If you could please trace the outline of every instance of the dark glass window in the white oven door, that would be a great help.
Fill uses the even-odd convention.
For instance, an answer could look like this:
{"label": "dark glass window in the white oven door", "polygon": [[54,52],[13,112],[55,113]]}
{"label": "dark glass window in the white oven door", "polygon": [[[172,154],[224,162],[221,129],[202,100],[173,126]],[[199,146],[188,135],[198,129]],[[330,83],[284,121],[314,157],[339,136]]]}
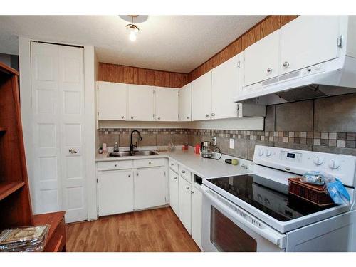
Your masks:
{"label": "dark glass window in the white oven door", "polygon": [[210,241],[219,251],[255,252],[257,242],[220,211],[211,206]]}

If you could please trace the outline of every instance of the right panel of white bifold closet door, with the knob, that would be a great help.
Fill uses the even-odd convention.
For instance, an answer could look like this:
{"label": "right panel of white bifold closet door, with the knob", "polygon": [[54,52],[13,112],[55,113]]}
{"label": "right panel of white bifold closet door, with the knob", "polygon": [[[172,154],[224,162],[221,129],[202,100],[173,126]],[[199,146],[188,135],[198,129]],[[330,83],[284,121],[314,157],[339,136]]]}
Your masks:
{"label": "right panel of white bifold closet door, with the knob", "polygon": [[83,48],[58,46],[61,167],[66,222],[87,219],[85,201]]}

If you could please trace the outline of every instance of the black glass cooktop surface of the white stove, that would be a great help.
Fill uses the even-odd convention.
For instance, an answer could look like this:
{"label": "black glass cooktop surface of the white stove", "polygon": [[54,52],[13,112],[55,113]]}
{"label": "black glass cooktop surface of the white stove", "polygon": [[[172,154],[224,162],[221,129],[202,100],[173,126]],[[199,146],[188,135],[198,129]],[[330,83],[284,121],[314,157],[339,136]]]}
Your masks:
{"label": "black glass cooktop surface of the white stove", "polygon": [[278,221],[290,221],[330,208],[330,206],[320,207],[288,195],[288,185],[255,174],[214,178],[207,181]]}

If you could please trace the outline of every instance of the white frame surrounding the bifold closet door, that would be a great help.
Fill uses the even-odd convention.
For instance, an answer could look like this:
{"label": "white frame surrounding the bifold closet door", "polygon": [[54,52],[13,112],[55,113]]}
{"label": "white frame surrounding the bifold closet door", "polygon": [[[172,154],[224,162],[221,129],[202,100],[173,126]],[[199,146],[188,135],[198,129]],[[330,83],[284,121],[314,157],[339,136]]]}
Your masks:
{"label": "white frame surrounding the bifold closet door", "polygon": [[[25,145],[26,165],[32,203],[35,202],[36,192],[33,173],[33,137],[32,137],[32,106],[31,106],[31,38],[19,37],[19,68],[20,68],[20,103],[21,123],[23,127],[23,142]],[[59,45],[80,46],[74,43],[53,43]],[[98,138],[95,138],[95,80],[98,77],[98,59],[95,56],[94,46],[84,48],[84,110],[85,110],[85,185],[87,204],[87,219],[97,219],[96,199],[96,172],[95,172],[95,147]],[[33,205],[32,205],[33,206]],[[34,208],[34,206],[33,206]],[[36,214],[36,209],[33,209]]]}

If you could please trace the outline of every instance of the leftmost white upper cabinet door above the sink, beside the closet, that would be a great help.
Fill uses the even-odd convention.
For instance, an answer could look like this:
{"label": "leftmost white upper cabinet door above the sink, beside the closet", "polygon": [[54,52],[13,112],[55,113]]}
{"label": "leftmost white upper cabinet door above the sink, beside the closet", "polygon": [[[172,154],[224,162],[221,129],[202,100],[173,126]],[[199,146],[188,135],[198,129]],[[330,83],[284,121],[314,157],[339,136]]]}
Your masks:
{"label": "leftmost white upper cabinet door above the sink, beside the closet", "polygon": [[127,85],[98,82],[98,120],[126,120]]}

